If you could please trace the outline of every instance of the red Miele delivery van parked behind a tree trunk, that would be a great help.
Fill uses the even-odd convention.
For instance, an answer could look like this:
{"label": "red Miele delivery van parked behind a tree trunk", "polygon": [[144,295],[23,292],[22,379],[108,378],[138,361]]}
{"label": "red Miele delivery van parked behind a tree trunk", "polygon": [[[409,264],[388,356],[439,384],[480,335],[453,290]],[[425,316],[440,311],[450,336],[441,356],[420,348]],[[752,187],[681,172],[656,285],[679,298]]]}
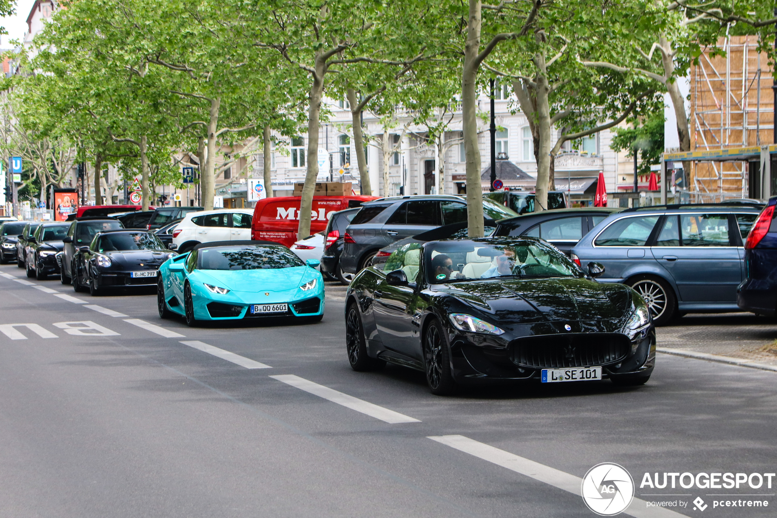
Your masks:
{"label": "red Miele delivery van parked behind a tree trunk", "polygon": [[[310,233],[325,230],[333,212],[359,207],[364,202],[377,199],[377,196],[313,196]],[[291,248],[297,241],[300,200],[300,196],[283,196],[256,202],[251,238],[274,241]]]}

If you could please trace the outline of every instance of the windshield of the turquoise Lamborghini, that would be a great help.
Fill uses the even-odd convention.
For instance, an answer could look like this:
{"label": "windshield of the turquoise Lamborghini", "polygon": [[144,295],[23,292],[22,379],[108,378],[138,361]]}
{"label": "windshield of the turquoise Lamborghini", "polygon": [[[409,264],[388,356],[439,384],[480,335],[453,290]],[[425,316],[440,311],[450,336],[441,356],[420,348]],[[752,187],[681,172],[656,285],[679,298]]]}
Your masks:
{"label": "windshield of the turquoise Lamborghini", "polygon": [[305,266],[285,246],[247,245],[200,249],[198,269],[270,269]]}

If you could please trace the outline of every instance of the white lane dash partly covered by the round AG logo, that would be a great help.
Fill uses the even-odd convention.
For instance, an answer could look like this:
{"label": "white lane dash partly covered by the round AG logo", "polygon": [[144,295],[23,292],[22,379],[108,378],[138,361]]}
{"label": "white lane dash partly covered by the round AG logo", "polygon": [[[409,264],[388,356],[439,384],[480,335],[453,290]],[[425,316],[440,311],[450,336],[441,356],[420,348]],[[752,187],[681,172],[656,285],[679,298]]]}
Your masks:
{"label": "white lane dash partly covered by the round AG logo", "polygon": [[[550,468],[545,466],[545,464],[530,461],[527,458],[511,454],[509,451],[500,450],[485,443],[479,443],[462,435],[428,436],[427,439],[436,440],[438,443],[463,451],[465,454],[481,458],[483,461],[493,462],[493,464],[497,464],[502,468],[507,468],[521,475],[526,475],[580,496],[583,479],[570,475],[565,471]],[[580,502],[580,506],[582,505],[583,502]],[[677,516],[685,516],[663,507],[648,507],[647,503],[642,499],[633,499],[629,508],[623,511],[623,513],[636,518],[676,518]]]}

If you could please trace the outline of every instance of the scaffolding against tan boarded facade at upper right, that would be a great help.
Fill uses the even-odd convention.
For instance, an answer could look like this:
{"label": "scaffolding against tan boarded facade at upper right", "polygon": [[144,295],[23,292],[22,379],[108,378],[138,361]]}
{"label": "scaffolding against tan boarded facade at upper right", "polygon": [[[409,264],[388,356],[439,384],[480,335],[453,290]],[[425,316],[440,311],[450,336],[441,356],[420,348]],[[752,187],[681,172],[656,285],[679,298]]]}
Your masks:
{"label": "scaffolding against tan boarded facade at upper right", "polygon": [[[723,54],[715,54],[723,50]],[[702,152],[760,147],[772,142],[774,97],[772,68],[758,52],[758,37],[723,37],[691,68],[691,150]],[[758,162],[755,162],[758,163]],[[688,175],[699,200],[747,197],[753,162],[696,161]]]}

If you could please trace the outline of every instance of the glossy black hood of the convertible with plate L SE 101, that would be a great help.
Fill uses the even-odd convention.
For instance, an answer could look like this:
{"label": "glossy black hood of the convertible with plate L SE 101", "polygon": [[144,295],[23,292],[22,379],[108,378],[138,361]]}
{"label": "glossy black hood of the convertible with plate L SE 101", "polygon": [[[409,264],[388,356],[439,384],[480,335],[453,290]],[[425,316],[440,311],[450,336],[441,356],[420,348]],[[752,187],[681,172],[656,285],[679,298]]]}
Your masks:
{"label": "glossy black hood of the convertible with plate L SE 101", "polygon": [[632,307],[629,287],[577,278],[481,280],[439,291],[506,324],[617,320]]}

